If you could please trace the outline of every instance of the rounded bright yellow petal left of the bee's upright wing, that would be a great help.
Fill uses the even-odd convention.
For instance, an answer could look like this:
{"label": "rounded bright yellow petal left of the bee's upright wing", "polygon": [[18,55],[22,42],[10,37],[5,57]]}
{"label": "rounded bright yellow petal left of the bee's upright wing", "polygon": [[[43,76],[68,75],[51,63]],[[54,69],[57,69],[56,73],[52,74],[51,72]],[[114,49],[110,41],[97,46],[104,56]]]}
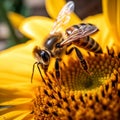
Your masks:
{"label": "rounded bright yellow petal left of the bee's upright wing", "polygon": [[41,45],[40,47],[42,47],[42,43],[49,34],[52,24],[52,20],[47,17],[29,17],[21,24],[20,31],[26,36],[37,40],[38,44]]}

